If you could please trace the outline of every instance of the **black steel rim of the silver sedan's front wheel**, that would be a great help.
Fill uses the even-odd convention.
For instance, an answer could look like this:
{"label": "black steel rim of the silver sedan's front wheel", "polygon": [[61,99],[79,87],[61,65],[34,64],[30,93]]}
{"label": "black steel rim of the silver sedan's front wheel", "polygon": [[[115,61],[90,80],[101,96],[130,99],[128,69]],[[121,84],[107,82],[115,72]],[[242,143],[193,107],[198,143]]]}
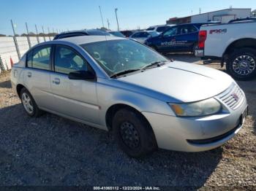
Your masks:
{"label": "black steel rim of the silver sedan's front wheel", "polygon": [[140,145],[140,136],[132,123],[123,122],[120,127],[121,139],[130,149],[135,149]]}

